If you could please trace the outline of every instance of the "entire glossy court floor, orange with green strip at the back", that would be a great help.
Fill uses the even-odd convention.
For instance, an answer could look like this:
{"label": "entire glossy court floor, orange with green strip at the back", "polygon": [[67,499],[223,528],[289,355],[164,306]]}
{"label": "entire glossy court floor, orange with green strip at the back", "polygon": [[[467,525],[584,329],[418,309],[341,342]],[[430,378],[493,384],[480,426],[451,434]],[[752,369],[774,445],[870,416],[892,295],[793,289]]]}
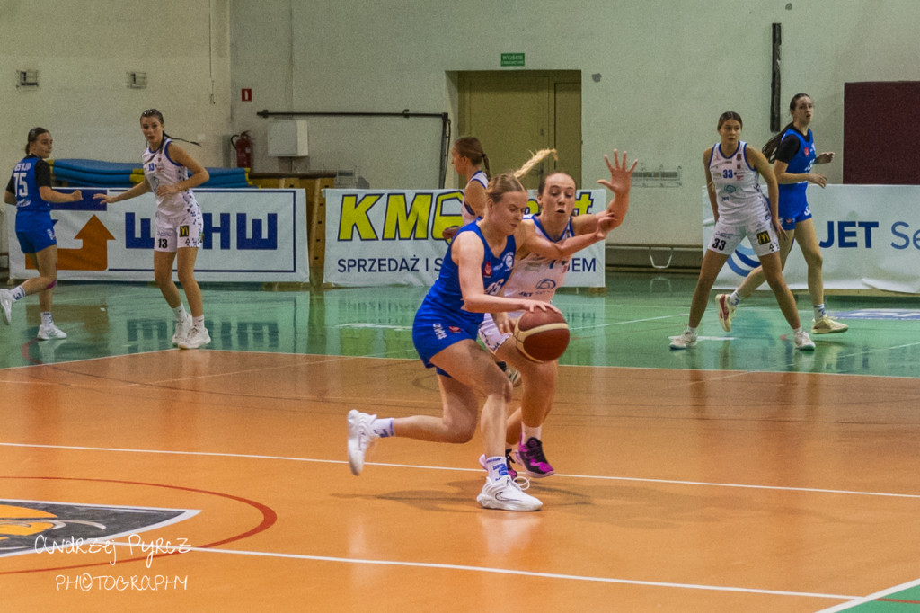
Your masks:
{"label": "entire glossy court floor, orange with green strip at the back", "polygon": [[440,414],[424,288],[204,285],[197,351],[144,283],[61,283],[60,341],[29,296],[0,326],[0,610],[920,607],[914,297],[829,296],[850,330],[800,353],[757,296],[673,352],[694,283],[557,296],[535,513],[477,505],[478,436],[387,439],[349,471],[350,409]]}

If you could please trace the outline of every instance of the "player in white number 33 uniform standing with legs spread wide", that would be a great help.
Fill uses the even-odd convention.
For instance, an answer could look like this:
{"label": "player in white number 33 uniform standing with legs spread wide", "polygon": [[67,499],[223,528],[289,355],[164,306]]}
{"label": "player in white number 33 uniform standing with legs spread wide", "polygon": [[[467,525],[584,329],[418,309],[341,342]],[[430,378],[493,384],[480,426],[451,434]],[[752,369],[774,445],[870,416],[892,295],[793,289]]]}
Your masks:
{"label": "player in white number 33 uniform standing with legs spread wide", "polygon": [[[773,168],[764,154],[741,140],[741,115],[732,111],[722,113],[718,130],[720,142],[703,152],[706,188],[716,228],[703,256],[690,305],[690,321],[683,334],[671,339],[671,348],[686,349],[696,345],[697,329],[706,311],[709,291],[722,266],[746,236],[764,269],[766,283],[793,330],[796,349],[813,351],[814,342],[801,328],[796,301],[783,278],[779,260],[779,237],[784,231],[779,224]],[[766,181],[769,200],[760,191],[758,173]]]}

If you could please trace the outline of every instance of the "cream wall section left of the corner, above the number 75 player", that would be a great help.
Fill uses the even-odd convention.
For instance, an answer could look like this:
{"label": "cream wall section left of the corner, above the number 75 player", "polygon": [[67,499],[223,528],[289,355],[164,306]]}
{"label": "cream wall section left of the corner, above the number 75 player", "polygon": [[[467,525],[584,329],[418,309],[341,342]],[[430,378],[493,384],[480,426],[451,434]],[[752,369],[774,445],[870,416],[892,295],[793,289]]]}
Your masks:
{"label": "cream wall section left of the corner, above the number 75 player", "polygon": [[[2,0],[0,177],[25,155],[29,129],[54,138],[53,157],[138,162],[138,120],[159,109],[167,132],[201,141],[190,154],[224,166],[230,134],[227,0]],[[16,71],[37,69],[40,85],[16,87]],[[147,73],[146,89],[127,74]],[[212,99],[213,94],[213,99]],[[4,206],[12,223],[14,209]],[[0,239],[6,251],[6,232]]]}

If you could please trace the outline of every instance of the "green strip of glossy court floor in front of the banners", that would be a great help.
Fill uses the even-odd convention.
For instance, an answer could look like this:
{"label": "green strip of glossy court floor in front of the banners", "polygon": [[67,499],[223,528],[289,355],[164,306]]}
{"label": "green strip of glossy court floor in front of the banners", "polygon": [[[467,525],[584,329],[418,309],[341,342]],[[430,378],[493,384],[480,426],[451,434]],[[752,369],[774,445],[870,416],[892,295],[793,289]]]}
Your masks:
{"label": "green strip of glossy court floor in front of the banners", "polygon": [[[742,303],[731,332],[716,308],[703,318],[696,347],[669,349],[681,333],[696,277],[608,272],[605,291],[562,289],[555,304],[571,329],[561,364],[920,376],[920,301],[914,296],[829,295],[842,334],[814,336],[814,352],[798,352],[772,294]],[[255,284],[202,285],[209,349],[415,359],[411,325],[424,287],[267,291]],[[715,292],[713,292],[715,295]],[[802,322],[811,301],[797,293]],[[84,360],[171,349],[172,313],[152,283],[63,281],[54,319],[67,332],[38,341],[38,300],[13,307],[0,326],[0,367]],[[178,350],[177,350],[178,351]],[[207,350],[205,350],[207,351]]]}

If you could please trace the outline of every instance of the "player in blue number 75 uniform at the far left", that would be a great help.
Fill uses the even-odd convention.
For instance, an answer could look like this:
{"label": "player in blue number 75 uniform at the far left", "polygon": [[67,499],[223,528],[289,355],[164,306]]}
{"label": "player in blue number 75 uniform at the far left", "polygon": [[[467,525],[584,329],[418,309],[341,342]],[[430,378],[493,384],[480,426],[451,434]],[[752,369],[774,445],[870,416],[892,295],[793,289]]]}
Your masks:
{"label": "player in blue number 75 uniform at the far left", "polygon": [[6,184],[4,202],[16,204],[16,237],[22,252],[35,263],[39,276],[12,290],[0,289],[0,311],[4,323],[12,318],[13,304],[30,294],[39,295],[41,324],[38,339],[65,339],[67,334],[54,325],[52,291],[57,283],[57,238],[54,236],[52,202],[83,200],[79,190],[52,190],[52,171],[45,159],[52,155],[52,133],[44,128],[29,130],[26,156],[13,169]]}

